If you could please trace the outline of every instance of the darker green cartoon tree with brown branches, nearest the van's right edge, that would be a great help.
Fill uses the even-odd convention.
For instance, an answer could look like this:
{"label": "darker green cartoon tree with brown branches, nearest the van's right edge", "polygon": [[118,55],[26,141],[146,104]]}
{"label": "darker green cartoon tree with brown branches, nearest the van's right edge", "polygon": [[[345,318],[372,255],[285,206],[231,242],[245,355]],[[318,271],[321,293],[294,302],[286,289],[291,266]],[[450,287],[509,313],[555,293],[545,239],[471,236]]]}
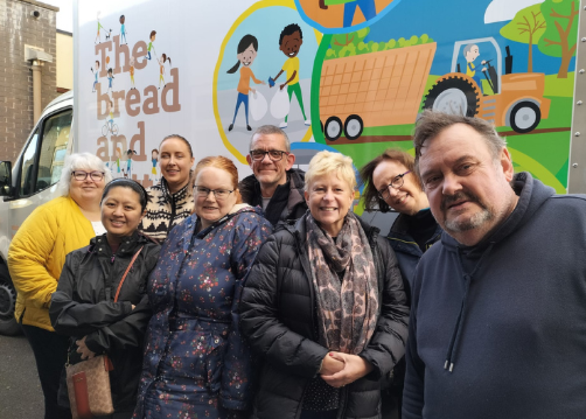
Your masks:
{"label": "darker green cartoon tree with brown branches, nearest the van's right edge", "polygon": [[570,60],[576,52],[578,8],[577,0],[546,0],[541,4],[547,29],[538,46],[548,56],[561,57],[558,79],[567,79]]}

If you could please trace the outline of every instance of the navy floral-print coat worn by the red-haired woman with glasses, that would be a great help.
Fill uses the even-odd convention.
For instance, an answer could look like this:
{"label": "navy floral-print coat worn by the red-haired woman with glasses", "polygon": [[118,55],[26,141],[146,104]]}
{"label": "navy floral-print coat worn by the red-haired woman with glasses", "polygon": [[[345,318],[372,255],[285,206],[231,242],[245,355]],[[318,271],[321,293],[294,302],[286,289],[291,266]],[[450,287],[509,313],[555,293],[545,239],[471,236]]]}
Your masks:
{"label": "navy floral-print coat worn by the red-haired woman with glasses", "polygon": [[196,224],[192,215],[171,231],[149,278],[135,418],[225,419],[253,398],[237,305],[271,224],[247,205],[199,233]]}

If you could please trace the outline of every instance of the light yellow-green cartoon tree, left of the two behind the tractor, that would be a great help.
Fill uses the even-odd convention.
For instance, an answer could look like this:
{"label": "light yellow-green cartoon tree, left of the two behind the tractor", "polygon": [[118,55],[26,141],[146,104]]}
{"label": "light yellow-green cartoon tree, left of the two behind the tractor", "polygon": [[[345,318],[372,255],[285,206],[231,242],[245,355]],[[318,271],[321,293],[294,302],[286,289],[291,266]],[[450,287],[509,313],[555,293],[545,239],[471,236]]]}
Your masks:
{"label": "light yellow-green cartoon tree, left of the two behind the tractor", "polygon": [[504,38],[529,45],[528,73],[533,73],[533,45],[539,42],[544,32],[546,32],[546,21],[541,14],[540,4],[521,9],[512,21],[500,28],[500,35]]}

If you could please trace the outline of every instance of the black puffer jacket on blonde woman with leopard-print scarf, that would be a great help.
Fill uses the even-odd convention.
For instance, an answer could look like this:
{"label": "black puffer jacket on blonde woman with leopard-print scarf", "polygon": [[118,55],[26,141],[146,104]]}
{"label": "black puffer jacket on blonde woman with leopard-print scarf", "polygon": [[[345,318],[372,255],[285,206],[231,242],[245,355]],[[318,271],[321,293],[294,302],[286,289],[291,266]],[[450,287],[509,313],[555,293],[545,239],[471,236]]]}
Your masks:
{"label": "black puffer jacket on blonde woman with leopard-print scarf", "polygon": [[[254,418],[294,419],[304,391],[328,349],[316,336],[314,287],[305,243],[305,217],[278,231],[261,247],[240,305],[241,326],[264,366]],[[405,352],[409,310],[397,258],[379,230],[362,220],[379,279],[381,314],[369,345],[359,355],[374,370],[343,387],[339,418],[380,418],[381,379]]]}

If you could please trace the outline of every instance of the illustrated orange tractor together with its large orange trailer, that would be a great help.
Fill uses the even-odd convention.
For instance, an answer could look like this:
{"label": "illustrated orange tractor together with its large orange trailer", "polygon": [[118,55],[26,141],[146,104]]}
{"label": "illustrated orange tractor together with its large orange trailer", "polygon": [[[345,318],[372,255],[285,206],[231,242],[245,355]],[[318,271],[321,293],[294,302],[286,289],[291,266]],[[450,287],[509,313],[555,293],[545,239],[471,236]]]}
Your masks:
{"label": "illustrated orange tractor together with its large orange trailer", "polygon": [[[482,70],[492,94],[483,96],[472,77],[459,70],[462,46],[489,42],[496,51],[496,69],[487,60]],[[319,86],[319,116],[326,140],[342,134],[355,140],[365,127],[413,124],[421,108],[435,56],[435,42],[325,60]],[[492,37],[454,44],[451,73],[440,77],[423,99],[423,108],[476,116],[516,132],[534,130],[547,118],[550,100],[543,97],[543,73],[511,74],[513,57],[502,53]]]}

